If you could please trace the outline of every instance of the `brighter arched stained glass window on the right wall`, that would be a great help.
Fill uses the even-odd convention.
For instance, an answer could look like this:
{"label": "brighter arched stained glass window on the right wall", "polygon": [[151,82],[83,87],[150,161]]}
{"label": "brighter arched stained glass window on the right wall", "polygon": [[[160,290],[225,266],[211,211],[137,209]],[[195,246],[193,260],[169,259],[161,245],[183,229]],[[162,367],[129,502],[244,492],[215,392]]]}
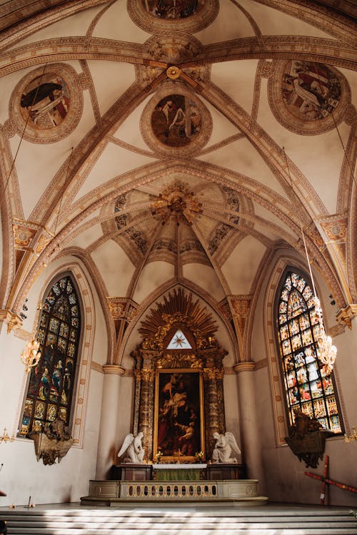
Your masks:
{"label": "brighter arched stained glass window on the right wall", "polygon": [[294,409],[301,409],[325,429],[341,433],[333,377],[316,357],[318,337],[311,287],[298,273],[287,272],[278,300],[278,343],[289,424]]}

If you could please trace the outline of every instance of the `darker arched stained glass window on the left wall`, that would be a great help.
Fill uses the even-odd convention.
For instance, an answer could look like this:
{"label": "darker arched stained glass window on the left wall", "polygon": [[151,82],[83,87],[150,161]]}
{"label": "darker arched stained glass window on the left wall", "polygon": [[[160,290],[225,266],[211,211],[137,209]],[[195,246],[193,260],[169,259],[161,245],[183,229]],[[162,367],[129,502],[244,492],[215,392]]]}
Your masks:
{"label": "darker arched stained glass window on the left wall", "polygon": [[69,424],[79,348],[81,314],[70,276],[51,287],[44,300],[37,340],[41,358],[31,370],[19,434],[60,418]]}

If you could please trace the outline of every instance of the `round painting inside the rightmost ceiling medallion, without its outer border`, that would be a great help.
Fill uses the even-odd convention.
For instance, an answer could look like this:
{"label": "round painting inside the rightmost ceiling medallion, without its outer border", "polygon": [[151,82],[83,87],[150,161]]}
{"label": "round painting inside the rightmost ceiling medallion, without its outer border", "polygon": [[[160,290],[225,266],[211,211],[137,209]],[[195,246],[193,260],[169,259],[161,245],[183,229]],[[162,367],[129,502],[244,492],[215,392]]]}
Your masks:
{"label": "round painting inside the rightmost ceiling medallion, without its outer border", "polygon": [[319,121],[333,113],[341,99],[341,84],[331,68],[314,61],[286,63],[283,101],[302,121]]}

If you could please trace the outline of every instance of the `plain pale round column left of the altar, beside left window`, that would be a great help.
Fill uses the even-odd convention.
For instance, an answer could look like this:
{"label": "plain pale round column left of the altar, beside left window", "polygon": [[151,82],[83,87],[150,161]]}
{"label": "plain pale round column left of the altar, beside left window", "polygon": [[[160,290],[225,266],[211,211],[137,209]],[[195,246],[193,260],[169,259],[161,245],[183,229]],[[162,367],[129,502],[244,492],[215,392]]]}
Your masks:
{"label": "plain pale round column left of the altar, beside left window", "polygon": [[120,377],[124,368],[116,365],[103,366],[104,381],[101,398],[101,424],[99,428],[96,479],[106,479],[116,454],[116,432],[118,423]]}

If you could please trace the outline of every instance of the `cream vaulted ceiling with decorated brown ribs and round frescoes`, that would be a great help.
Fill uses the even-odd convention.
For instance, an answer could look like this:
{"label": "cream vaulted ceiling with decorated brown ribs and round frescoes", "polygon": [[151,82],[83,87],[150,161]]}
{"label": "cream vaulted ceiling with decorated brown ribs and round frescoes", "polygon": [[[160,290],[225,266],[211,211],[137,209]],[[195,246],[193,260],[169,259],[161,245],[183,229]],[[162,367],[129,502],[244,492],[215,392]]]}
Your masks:
{"label": "cream vaulted ceiling with decorated brown ribs and round frescoes", "polygon": [[327,0],[6,2],[2,308],[69,254],[104,305],[181,283],[229,307],[277,250],[304,255],[301,229],[338,307],[356,302],[355,17]]}

